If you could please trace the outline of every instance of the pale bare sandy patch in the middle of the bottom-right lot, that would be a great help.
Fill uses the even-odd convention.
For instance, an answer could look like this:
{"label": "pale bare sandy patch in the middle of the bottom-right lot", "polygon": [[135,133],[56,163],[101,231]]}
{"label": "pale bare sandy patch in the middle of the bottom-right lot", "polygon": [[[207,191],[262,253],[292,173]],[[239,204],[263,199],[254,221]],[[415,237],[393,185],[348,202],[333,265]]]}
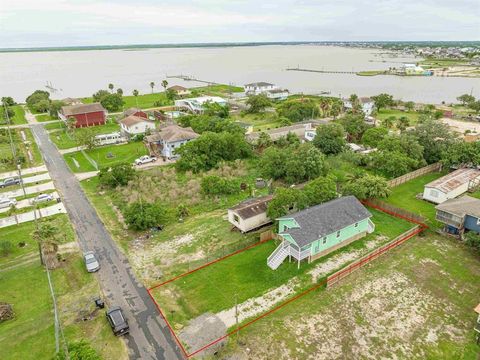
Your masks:
{"label": "pale bare sandy patch in the middle of the bottom-right lot", "polygon": [[412,358],[440,337],[465,336],[453,326],[431,323],[430,314],[439,307],[444,304],[395,272],[355,287],[324,312],[284,323],[308,347],[308,359],[348,358],[345,349],[356,358]]}

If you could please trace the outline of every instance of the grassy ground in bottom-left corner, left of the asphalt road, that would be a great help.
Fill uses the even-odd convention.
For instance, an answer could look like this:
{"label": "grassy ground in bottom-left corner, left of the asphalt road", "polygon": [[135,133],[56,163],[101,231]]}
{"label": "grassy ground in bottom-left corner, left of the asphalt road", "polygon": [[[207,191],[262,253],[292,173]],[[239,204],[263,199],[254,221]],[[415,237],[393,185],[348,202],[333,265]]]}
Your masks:
{"label": "grassy ground in bottom-left corner, left of the asphalt road", "polygon": [[[66,215],[45,220],[62,229],[59,253],[64,259],[51,272],[60,319],[68,342],[86,339],[105,359],[124,359],[126,351],[115,338],[103,312],[94,311],[92,299],[100,289],[85,271]],[[13,306],[15,318],[0,323],[0,358],[52,359],[55,352],[53,307],[45,269],[31,234],[33,222],[0,229],[0,239],[12,243],[12,252],[0,256],[0,302]],[[25,246],[19,247],[20,242]],[[83,321],[84,315],[90,320]]]}

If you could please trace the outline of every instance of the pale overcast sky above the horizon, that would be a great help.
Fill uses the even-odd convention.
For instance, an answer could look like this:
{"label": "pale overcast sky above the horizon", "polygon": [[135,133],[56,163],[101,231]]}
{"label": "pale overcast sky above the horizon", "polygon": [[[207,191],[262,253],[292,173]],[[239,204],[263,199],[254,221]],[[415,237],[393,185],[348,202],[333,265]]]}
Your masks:
{"label": "pale overcast sky above the horizon", "polygon": [[0,48],[480,40],[480,0],[0,0]]}

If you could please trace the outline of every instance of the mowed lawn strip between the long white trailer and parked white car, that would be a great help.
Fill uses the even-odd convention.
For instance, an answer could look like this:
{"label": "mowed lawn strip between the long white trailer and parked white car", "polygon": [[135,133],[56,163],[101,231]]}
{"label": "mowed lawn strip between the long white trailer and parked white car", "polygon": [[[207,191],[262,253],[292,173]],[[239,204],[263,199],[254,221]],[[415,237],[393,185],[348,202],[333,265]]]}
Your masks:
{"label": "mowed lawn strip between the long white trailer and parked white car", "polygon": [[[143,142],[131,142],[124,145],[109,145],[93,150],[76,151],[65,154],[63,157],[73,172],[88,172],[97,170],[85,154],[97,163],[98,168],[113,166],[127,162],[133,163],[135,159],[147,154]],[[77,161],[77,167],[74,159]]]}

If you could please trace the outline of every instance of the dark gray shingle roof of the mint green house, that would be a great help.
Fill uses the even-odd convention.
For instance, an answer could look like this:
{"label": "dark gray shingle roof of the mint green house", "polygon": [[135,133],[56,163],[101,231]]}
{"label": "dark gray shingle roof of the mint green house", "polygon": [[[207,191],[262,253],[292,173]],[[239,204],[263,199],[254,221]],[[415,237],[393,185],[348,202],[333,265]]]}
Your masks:
{"label": "dark gray shingle roof of the mint green house", "polygon": [[371,216],[356,197],[343,196],[280,219],[295,219],[300,228],[288,229],[284,234],[290,234],[303,247]]}

